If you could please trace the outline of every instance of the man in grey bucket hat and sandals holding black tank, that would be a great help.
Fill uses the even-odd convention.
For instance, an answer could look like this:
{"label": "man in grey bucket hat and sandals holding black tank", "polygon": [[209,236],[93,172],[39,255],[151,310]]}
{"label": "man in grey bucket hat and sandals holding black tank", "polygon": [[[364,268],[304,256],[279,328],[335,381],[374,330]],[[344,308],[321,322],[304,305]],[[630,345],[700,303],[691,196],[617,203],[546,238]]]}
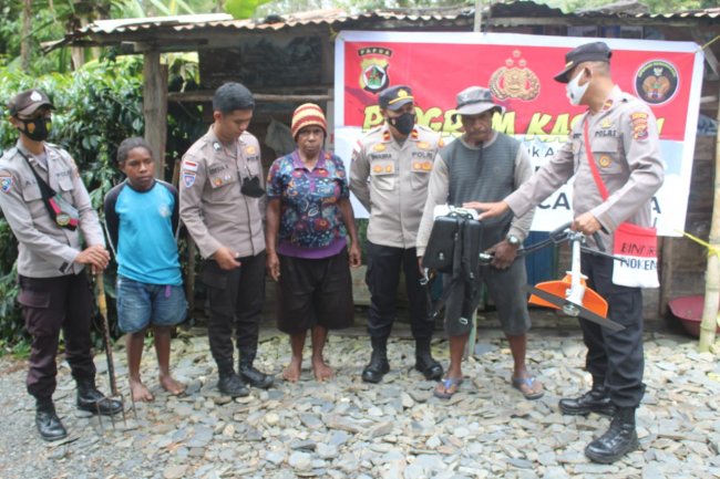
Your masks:
{"label": "man in grey bucket hat and sandals holding black tank", "polygon": [[[418,232],[418,254],[422,256],[430,240],[436,205],[463,206],[467,201],[497,200],[516,190],[533,174],[525,148],[515,138],[492,128],[493,116],[503,107],[491,91],[470,86],[457,93],[456,114],[463,135],[438,154],[430,177],[428,201]],[[450,366],[445,378],[434,391],[436,397],[449,399],[463,382],[462,356],[473,327],[472,316],[480,302],[480,285],[487,287],[497,308],[500,322],[513,355],[510,382],[527,399],[543,396],[543,385],[526,367],[527,331],[531,327],[524,261],[515,261],[517,249],[533,222],[533,210],[520,218],[505,215],[483,225],[481,249],[493,252],[491,264],[480,268],[477,280],[452,284],[445,302],[445,331],[450,339]]]}

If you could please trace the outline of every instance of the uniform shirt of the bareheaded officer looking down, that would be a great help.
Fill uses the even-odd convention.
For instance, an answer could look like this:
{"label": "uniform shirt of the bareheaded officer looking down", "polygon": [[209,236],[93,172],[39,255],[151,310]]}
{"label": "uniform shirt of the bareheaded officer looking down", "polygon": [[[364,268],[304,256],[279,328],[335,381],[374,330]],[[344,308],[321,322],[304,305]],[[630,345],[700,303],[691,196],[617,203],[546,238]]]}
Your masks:
{"label": "uniform shirt of the bareheaded officer looking down", "polygon": [[183,156],[179,214],[203,258],[212,257],[220,247],[240,257],[265,250],[266,198],[240,192],[243,178],[256,176],[265,187],[260,145],[248,132],[224,146],[210,126]]}

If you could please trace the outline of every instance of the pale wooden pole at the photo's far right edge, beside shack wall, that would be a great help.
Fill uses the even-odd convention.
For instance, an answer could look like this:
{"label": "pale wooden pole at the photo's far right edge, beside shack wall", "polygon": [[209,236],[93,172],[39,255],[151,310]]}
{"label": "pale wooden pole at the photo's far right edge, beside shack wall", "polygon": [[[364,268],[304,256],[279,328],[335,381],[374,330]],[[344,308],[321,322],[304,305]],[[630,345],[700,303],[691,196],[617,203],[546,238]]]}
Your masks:
{"label": "pale wooden pole at the photo's far right edge, beside shack wall", "polygon": [[[719,96],[720,97],[720,96]],[[718,102],[718,124],[720,124],[720,102]],[[714,200],[710,225],[708,269],[704,275],[704,306],[700,323],[700,352],[710,351],[714,344],[718,327],[718,304],[720,304],[720,134],[716,136],[714,149]]]}

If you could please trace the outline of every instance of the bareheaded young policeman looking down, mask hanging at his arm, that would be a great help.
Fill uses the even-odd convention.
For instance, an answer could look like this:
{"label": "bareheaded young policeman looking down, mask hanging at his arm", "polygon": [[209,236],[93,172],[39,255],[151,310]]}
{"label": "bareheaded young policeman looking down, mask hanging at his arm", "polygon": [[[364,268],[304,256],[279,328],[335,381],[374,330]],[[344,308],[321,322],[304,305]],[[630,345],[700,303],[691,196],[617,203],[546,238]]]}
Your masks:
{"label": "bareheaded young policeman looking down, mask hanging at his arm", "polygon": [[204,258],[200,278],[208,293],[208,340],[218,388],[233,397],[249,394],[246,383],[260,388],[272,384],[272,376],[254,366],[265,301],[266,204],[260,145],[247,132],[254,110],[253,94],[244,85],[218,87],[215,122],[183,156],[179,184],[181,218]]}

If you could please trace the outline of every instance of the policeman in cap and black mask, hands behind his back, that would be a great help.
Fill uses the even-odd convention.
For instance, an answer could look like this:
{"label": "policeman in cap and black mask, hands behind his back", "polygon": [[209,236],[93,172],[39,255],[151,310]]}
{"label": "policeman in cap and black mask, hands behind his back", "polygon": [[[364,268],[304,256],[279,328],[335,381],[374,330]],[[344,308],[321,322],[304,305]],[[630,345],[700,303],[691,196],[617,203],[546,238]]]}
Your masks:
{"label": "policeman in cap and black mask, hands behind his back", "polygon": [[350,168],[350,189],[370,211],[366,281],[371,294],[368,332],[372,356],[362,371],[362,381],[379,383],[390,371],[387,345],[395,320],[401,269],[410,301],[415,369],[428,379],[439,379],[443,371],[430,352],[434,324],[429,292],[420,284],[415,236],[442,139],[439,133],[415,124],[409,86],[382,91],[379,103],[384,122],[360,139]]}

